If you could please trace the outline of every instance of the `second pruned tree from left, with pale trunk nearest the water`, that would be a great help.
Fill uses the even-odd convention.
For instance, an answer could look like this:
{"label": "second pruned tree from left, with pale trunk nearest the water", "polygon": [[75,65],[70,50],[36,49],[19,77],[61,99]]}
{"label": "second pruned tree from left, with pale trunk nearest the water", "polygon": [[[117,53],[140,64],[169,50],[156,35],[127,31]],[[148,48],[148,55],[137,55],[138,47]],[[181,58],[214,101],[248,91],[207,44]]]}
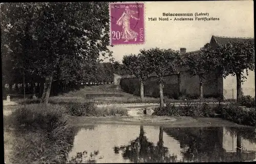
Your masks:
{"label": "second pruned tree from left, with pale trunk nearest the water", "polygon": [[172,49],[150,49],[141,50],[143,55],[150,65],[150,72],[155,72],[160,89],[160,105],[164,106],[163,102],[163,82],[164,76],[168,74],[174,74],[177,72],[177,67],[181,64],[181,58],[179,51]]}

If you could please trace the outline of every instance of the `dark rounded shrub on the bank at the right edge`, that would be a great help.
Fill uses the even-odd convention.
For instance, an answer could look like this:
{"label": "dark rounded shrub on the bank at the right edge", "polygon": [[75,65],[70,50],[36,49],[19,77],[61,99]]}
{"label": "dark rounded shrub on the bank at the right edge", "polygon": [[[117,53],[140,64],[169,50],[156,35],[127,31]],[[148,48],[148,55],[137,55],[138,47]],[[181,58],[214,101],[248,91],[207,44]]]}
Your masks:
{"label": "dark rounded shrub on the bank at the right edge", "polygon": [[255,126],[255,108],[243,108],[232,103],[222,110],[222,118],[237,124]]}

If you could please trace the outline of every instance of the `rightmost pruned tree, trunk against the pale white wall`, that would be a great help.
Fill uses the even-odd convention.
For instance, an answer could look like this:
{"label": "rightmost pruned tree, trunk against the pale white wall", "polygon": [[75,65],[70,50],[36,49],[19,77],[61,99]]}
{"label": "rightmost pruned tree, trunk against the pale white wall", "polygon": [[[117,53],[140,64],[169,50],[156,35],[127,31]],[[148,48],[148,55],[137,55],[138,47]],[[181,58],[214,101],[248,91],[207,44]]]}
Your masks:
{"label": "rightmost pruned tree, trunk against the pale white wall", "polygon": [[254,71],[254,42],[229,42],[217,48],[216,55],[220,57],[219,65],[223,70],[223,77],[236,75],[237,77],[237,101],[242,96],[242,82],[246,79],[244,70]]}

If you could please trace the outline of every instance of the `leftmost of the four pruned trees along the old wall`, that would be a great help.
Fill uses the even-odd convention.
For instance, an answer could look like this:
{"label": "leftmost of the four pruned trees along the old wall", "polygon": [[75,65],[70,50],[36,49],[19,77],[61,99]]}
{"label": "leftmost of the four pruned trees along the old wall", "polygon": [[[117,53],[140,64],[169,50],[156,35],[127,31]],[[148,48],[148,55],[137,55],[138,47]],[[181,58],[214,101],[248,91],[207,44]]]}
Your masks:
{"label": "leftmost of the four pruned trees along the old wall", "polygon": [[129,71],[140,80],[140,98],[144,99],[144,83],[150,74],[150,66],[148,65],[147,58],[139,54],[125,55],[122,60],[123,64]]}

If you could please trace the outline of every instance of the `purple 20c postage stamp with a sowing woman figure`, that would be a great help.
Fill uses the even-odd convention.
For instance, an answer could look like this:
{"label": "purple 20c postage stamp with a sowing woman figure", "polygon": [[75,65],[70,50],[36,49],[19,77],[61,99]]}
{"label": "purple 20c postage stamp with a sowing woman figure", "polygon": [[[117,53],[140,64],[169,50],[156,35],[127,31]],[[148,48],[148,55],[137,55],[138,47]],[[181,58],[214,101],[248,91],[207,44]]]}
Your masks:
{"label": "purple 20c postage stamp with a sowing woman figure", "polygon": [[144,30],[143,3],[110,4],[111,44],[143,44]]}

